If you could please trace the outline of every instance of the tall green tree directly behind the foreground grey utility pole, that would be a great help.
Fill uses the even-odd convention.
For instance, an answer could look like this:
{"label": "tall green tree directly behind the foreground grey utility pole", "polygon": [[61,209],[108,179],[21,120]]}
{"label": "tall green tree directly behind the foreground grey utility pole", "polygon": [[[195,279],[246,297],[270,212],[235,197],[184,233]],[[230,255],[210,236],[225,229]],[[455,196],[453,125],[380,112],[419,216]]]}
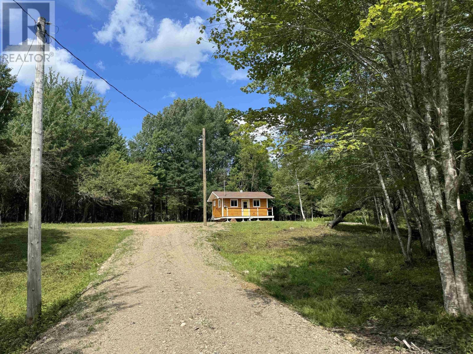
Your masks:
{"label": "tall green tree directly behind the foreground grey utility pole", "polygon": [[[0,164],[9,174],[9,218],[24,220],[29,176],[33,88],[20,98],[7,125]],[[44,82],[43,221],[75,220],[81,213],[76,187],[79,171],[108,151],[126,155],[119,127],[92,85],[50,71]]]}

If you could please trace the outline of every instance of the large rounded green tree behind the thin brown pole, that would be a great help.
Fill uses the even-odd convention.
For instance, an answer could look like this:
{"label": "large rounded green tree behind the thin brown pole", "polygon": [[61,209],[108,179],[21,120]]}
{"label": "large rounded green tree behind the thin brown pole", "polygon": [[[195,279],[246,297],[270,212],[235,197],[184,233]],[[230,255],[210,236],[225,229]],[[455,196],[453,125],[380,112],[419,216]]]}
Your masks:
{"label": "large rounded green tree behind the thin brown pole", "polygon": [[151,202],[159,204],[160,219],[201,219],[202,127],[207,135],[208,190],[223,188],[238,151],[230,137],[235,127],[226,120],[221,103],[210,107],[201,98],[176,99],[162,112],[143,118],[141,131],[130,142],[131,157],[153,166],[157,184]]}

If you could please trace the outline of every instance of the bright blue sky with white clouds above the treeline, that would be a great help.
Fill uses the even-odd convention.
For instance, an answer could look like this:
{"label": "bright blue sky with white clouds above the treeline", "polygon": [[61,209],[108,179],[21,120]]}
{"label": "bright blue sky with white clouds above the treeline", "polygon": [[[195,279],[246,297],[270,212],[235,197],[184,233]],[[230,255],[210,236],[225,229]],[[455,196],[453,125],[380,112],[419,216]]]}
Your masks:
{"label": "bright blue sky with white clouds above the treeline", "polygon": [[[210,44],[197,45],[198,27],[212,14],[201,0],[56,0],[55,37],[133,100],[151,112],[179,98],[202,97],[211,106],[246,110],[266,106],[267,97],[245,94],[245,71],[211,58]],[[52,28],[51,31],[54,29]],[[146,114],[66,52],[56,49],[53,68],[85,81],[110,101],[111,118],[131,138]],[[17,68],[14,67],[14,73]],[[33,81],[34,68],[23,67],[16,91]]]}

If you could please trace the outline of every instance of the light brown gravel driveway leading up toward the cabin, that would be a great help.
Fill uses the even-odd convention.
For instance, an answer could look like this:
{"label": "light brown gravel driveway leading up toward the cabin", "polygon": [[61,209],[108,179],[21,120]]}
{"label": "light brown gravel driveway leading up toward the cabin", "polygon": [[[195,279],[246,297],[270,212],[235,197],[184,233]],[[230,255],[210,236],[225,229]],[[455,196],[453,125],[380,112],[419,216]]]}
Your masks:
{"label": "light brown gravel driveway leading up toward the cabin", "polygon": [[135,250],[107,262],[109,275],[28,353],[359,353],[209,265],[219,257],[199,241],[200,226],[131,228]]}

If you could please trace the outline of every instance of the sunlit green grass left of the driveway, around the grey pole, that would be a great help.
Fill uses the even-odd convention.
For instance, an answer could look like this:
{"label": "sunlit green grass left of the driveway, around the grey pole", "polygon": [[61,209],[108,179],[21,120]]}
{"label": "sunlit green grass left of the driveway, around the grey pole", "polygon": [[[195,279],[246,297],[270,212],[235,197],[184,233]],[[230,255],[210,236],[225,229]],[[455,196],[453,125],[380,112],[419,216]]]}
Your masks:
{"label": "sunlit green grass left of the driveway, around the grey pole", "polygon": [[60,320],[88,283],[97,277],[100,264],[131,233],[131,230],[80,230],[64,224],[45,224],[42,316],[35,325],[26,326],[27,224],[10,223],[1,227],[0,353],[21,353],[22,348]]}

